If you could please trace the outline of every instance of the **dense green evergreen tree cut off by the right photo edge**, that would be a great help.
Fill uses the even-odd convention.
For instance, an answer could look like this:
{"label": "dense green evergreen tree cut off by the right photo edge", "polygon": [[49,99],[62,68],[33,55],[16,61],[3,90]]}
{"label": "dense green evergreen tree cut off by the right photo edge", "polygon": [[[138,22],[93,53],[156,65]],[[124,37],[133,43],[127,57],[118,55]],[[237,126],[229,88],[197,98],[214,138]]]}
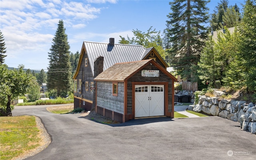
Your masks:
{"label": "dense green evergreen tree cut off by the right photo edge", "polygon": [[246,68],[247,91],[256,91],[256,0],[247,0],[244,5],[240,33],[240,52]]}

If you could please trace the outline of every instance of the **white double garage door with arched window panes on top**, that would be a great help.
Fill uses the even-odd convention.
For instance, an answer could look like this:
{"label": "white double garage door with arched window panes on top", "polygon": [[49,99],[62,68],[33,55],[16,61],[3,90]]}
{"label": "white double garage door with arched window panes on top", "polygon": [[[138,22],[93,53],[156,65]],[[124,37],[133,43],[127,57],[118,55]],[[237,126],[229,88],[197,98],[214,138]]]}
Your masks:
{"label": "white double garage door with arched window panes on top", "polygon": [[164,85],[135,86],[135,117],[164,115]]}

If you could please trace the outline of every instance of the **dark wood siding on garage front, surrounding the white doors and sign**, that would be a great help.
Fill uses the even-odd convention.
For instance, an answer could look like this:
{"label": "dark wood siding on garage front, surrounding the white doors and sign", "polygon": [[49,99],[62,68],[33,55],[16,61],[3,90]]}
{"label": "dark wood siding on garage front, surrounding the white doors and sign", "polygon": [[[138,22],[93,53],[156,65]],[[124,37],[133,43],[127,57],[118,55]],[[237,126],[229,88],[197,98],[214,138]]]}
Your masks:
{"label": "dark wood siding on garage front, surrounding the white doors and sign", "polygon": [[[156,66],[145,66],[142,70],[159,70]],[[141,71],[137,72],[127,81],[127,114],[132,114],[132,82],[168,82],[168,112],[172,111],[172,79],[160,70],[159,77],[142,77]]]}

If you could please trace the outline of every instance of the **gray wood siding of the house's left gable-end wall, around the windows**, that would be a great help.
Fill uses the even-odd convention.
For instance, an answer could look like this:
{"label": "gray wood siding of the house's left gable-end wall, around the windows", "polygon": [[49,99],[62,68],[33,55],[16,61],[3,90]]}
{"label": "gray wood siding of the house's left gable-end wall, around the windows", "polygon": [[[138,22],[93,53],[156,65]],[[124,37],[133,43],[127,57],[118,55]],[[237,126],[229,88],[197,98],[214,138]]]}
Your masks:
{"label": "gray wood siding of the house's left gable-end wall, around the windows", "polygon": [[[76,80],[82,80],[82,90],[81,94],[83,98],[87,100],[92,100],[93,97],[93,92],[90,90],[90,84],[93,82],[93,74],[92,74],[92,69],[90,67],[90,61],[88,60],[88,66],[85,67],[85,58],[88,58],[87,54],[84,53],[81,61],[81,65],[79,68],[79,72],[76,76]],[[93,62],[92,62],[93,63]],[[88,82],[89,88],[88,91],[86,90],[85,82]],[[81,97],[80,93],[74,92],[74,96]]]}

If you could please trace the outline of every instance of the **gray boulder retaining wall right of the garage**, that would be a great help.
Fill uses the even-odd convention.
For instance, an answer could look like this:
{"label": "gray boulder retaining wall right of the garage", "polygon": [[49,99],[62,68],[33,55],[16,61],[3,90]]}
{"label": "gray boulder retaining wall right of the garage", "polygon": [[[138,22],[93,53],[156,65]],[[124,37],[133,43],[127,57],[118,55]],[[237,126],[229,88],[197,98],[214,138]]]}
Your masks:
{"label": "gray boulder retaining wall right of the garage", "polygon": [[190,105],[188,110],[240,122],[242,130],[256,134],[256,105],[253,103],[199,96],[198,104]]}

